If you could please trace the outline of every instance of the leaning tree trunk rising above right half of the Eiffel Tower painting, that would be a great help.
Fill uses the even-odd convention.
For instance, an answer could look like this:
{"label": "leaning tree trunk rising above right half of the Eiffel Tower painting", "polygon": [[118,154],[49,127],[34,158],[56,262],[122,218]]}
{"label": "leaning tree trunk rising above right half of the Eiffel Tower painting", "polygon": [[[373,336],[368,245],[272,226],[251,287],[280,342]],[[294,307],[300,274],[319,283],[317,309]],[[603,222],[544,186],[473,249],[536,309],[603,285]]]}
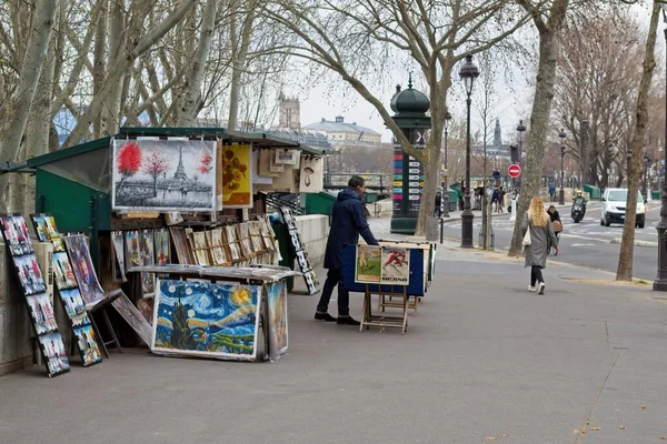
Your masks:
{"label": "leaning tree trunk rising above right half of the Eiffel Tower painting", "polygon": [[192,127],[201,107],[203,70],[211,49],[211,40],[216,27],[216,3],[217,0],[208,0],[202,12],[199,46],[193,54],[192,70],[186,77],[187,87],[178,127]]}

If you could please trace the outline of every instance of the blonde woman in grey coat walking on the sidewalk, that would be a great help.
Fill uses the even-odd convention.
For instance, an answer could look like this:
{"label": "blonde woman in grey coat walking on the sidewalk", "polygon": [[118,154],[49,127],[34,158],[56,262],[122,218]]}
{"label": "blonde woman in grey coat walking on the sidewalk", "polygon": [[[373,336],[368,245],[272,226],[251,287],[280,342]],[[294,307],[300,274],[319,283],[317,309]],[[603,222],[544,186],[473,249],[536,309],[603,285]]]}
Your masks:
{"label": "blonde woman in grey coat walking on the sidewalk", "polygon": [[547,255],[551,245],[559,252],[558,240],[551,226],[551,218],[545,211],[545,203],[539,195],[530,201],[528,212],[521,223],[524,245],[526,246],[526,266],[530,266],[530,285],[528,291],[545,294],[542,269],[547,266]]}

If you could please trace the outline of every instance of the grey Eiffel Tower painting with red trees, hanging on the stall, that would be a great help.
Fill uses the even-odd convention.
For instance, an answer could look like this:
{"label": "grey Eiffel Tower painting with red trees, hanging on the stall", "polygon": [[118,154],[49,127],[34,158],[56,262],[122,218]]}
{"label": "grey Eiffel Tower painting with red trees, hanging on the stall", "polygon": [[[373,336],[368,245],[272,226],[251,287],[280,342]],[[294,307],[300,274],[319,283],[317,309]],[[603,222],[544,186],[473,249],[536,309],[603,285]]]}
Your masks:
{"label": "grey Eiffel Tower painting with red trees, hanging on the stall", "polygon": [[216,142],[113,141],[113,210],[215,211]]}

